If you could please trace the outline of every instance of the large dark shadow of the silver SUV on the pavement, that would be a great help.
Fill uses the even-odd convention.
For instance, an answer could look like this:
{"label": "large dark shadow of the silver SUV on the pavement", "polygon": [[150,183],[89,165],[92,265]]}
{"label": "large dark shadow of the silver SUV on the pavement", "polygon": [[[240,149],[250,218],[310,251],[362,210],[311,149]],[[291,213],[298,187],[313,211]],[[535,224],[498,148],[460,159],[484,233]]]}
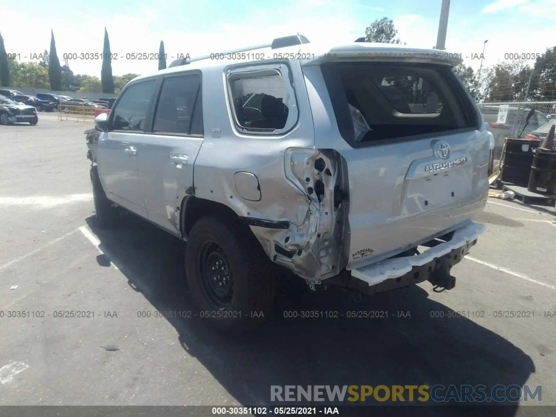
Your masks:
{"label": "large dark shadow of the silver SUV on the pavement", "polygon": [[[115,230],[99,230],[92,217],[87,219],[101,249],[118,262],[129,284],[155,309],[196,311],[185,282],[185,244],[131,214],[122,215],[125,222]],[[287,277],[277,288],[272,316],[251,334],[219,334],[199,318],[167,320],[178,331],[183,349],[246,406],[385,404],[371,396],[356,403],[272,403],[271,385],[485,385],[490,394],[498,384],[527,382],[535,372],[527,354],[481,326],[480,320],[486,318],[474,319],[477,324],[465,317],[448,317],[453,310],[428,298],[423,289],[432,289],[428,282],[421,285],[356,302],[353,294],[337,287],[312,292],[304,282]],[[305,319],[299,317],[301,311],[337,311],[338,317]],[[379,311],[383,317],[348,318],[348,311]],[[295,315],[290,312],[298,317],[286,317]],[[415,394],[411,404],[423,405]],[[470,403],[465,405],[463,413],[468,413]],[[451,407],[426,409],[426,415],[459,415]],[[388,414],[387,410],[396,415],[417,411],[373,407],[380,415]],[[488,414],[513,416],[517,410],[507,405]],[[358,407],[358,411],[368,414],[370,410]]]}

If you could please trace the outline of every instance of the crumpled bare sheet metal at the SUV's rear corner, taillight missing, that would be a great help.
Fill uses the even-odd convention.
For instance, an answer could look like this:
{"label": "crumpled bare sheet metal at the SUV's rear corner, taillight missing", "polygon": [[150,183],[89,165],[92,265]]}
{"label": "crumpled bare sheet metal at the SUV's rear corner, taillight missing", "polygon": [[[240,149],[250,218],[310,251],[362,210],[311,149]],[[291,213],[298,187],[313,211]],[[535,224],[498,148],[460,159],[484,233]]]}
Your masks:
{"label": "crumpled bare sheet metal at the SUV's rear corner, taillight missing", "polygon": [[290,221],[286,230],[251,226],[272,260],[310,284],[337,275],[347,262],[342,248],[344,204],[334,206],[334,188],[342,182],[339,160],[334,151],[289,148],[284,156],[285,175],[304,198],[300,210],[305,216],[301,222],[285,219]]}

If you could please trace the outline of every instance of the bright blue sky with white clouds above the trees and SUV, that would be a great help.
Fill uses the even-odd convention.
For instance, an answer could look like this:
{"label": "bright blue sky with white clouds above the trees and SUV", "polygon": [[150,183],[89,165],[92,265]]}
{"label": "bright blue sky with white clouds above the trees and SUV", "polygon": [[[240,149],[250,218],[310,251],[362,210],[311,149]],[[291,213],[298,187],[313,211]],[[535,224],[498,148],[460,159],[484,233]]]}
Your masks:
{"label": "bright blue sky with white clouds above the trees and SUV", "polygon": [[[32,7],[23,9],[0,0],[0,33],[8,53],[28,61],[31,53],[49,49],[51,28],[61,61],[63,53],[102,52],[106,26],[112,53],[119,56],[112,62],[115,75],[155,71],[156,61],[125,55],[157,52],[161,40],[170,56],[218,52],[297,32],[311,42],[345,43],[364,36],[365,28],[384,16],[394,19],[408,46],[429,48],[436,43],[441,5],[441,0],[31,1]],[[475,69],[480,62],[470,57],[481,53],[485,39],[484,65],[503,60],[505,53],[542,53],[556,46],[555,21],[556,0],[451,0],[446,49],[468,56],[465,63]],[[100,76],[101,61],[78,59],[69,66],[74,73]]]}

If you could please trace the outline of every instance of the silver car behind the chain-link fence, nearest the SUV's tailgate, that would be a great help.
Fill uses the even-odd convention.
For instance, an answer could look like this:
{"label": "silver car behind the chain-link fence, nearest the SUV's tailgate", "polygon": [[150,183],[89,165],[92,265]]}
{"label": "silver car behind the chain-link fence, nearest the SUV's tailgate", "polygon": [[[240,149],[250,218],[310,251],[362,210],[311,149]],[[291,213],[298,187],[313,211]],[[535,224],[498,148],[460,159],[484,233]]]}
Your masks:
{"label": "silver car behind the chain-link fence, nearest the SUV's tailgate", "polygon": [[533,117],[530,118],[529,123],[525,126],[525,120],[531,109],[509,106],[505,123],[498,123],[499,105],[479,105],[478,107],[483,115],[486,130],[493,134],[495,148],[499,151],[502,150],[505,137],[525,137],[548,122],[547,116],[535,110]]}

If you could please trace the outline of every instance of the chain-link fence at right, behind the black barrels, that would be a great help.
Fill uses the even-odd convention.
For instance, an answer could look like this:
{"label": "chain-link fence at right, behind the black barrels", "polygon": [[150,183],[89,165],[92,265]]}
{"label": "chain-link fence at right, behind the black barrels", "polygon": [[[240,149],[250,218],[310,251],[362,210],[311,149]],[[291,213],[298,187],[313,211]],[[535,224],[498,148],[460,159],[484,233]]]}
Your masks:
{"label": "chain-link fence at right, behind the black barrels", "polygon": [[[505,122],[499,123],[498,113],[500,106],[503,105],[508,106],[508,113]],[[527,135],[535,135],[543,140],[547,136],[550,125],[543,126],[549,121],[556,123],[556,101],[485,102],[478,103],[477,106],[483,114],[486,129],[494,136],[495,164],[502,155],[505,137],[525,138]],[[526,125],[527,115],[532,109],[535,112]]]}

